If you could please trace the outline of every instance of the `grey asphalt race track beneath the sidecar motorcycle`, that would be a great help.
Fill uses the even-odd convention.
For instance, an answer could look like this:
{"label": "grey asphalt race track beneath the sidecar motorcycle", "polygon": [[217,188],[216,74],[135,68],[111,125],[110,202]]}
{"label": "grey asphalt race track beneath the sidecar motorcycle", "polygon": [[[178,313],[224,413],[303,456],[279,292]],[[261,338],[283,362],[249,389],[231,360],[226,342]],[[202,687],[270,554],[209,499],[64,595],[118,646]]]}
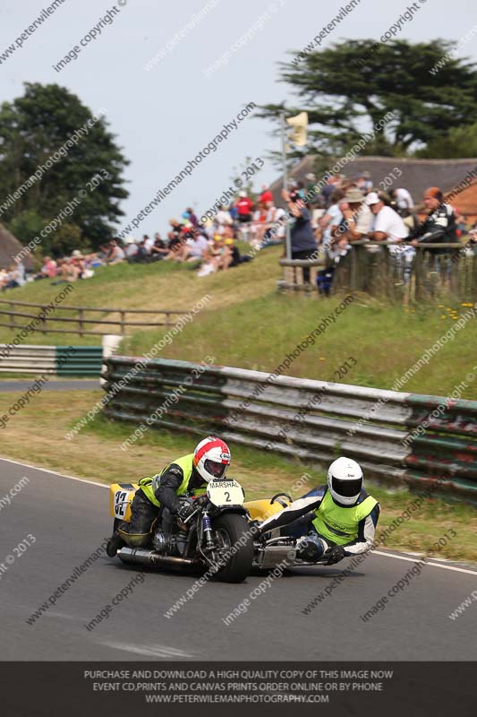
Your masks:
{"label": "grey asphalt race track beneath the sidecar motorcycle", "polygon": [[[386,609],[362,621],[360,615],[413,567],[412,557],[391,553],[368,557],[309,615],[302,609],[341,570],[294,569],[273,580],[230,626],[221,618],[250,598],[262,575],[240,585],[207,583],[165,618],[196,577],[146,572],[132,594],[88,631],[85,624],[138,574],[103,554],[30,626],[31,613],[109,535],[108,493],[15,462],[2,460],[0,467],[0,501],[23,476],[30,479],[11,505],[0,502],[3,660],[477,660],[477,605],[454,621],[447,617],[476,589],[473,566],[448,569],[456,564],[432,561]],[[29,534],[36,541],[14,557]]]}

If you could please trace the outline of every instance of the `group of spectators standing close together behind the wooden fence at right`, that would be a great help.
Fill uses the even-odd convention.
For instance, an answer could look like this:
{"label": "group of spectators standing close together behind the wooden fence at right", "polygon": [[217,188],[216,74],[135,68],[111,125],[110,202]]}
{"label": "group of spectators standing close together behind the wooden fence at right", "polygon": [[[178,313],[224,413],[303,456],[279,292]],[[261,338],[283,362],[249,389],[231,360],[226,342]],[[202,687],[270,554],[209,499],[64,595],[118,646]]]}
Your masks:
{"label": "group of spectators standing close together behind the wooden fence at right", "polygon": [[[328,296],[336,267],[348,254],[355,242],[386,242],[391,261],[403,270],[409,281],[415,247],[419,244],[456,243],[460,237],[477,231],[459,210],[444,200],[439,187],[425,190],[423,204],[426,217],[419,220],[413,197],[405,187],[388,192],[376,191],[371,176],[364,172],[359,177],[333,175],[314,194],[316,177],[306,176],[304,182],[292,182],[291,190],[282,195],[288,211],[294,217],[291,228],[291,258],[318,260],[325,258],[326,268],[319,271],[318,289]],[[307,203],[308,196],[311,203]],[[371,253],[382,251],[376,244],[366,246]],[[436,257],[446,255],[446,249],[430,248]],[[309,281],[310,272],[303,269],[303,280]]]}

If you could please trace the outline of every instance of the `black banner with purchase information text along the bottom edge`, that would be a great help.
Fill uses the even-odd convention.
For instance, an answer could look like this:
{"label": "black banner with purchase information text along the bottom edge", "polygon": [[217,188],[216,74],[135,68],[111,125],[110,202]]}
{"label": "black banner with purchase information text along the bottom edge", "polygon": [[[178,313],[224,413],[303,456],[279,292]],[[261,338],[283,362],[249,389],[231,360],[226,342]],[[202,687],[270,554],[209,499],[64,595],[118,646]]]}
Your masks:
{"label": "black banner with purchase information text along the bottom edge", "polygon": [[475,662],[3,662],[0,713],[131,717],[226,708],[250,717],[271,707],[280,715],[439,717],[457,699],[465,717],[477,714],[476,669]]}

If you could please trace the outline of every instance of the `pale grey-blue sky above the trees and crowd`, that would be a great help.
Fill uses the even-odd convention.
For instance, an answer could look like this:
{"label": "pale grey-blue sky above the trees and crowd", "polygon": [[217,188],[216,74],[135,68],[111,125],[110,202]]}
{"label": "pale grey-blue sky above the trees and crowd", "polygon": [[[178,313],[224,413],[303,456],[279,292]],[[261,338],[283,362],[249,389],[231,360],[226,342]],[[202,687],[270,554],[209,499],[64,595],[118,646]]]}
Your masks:
{"label": "pale grey-blue sky above the trees and crowd", "polygon": [[[106,109],[109,129],[131,161],[124,173],[130,196],[121,203],[124,218],[118,232],[246,105],[283,100],[296,104],[289,88],[279,82],[279,63],[319,36],[347,4],[56,0],[55,11],[44,13],[47,19],[21,38],[52,2],[2,0],[0,58],[11,45],[15,50],[0,63],[0,97],[5,101],[21,96],[23,82],[56,82],[77,94],[91,111]],[[477,26],[477,6],[469,0],[454,0],[450,8],[444,0],[354,3],[352,11],[342,13],[343,20],[322,37],[320,48],[342,39],[376,40],[396,23],[396,38],[412,41],[435,39],[444,32],[446,39],[459,40]],[[412,5],[414,12],[407,13],[412,19],[403,20]],[[89,32],[95,29],[92,38]],[[72,51],[75,46],[79,52]],[[71,51],[76,58],[57,72],[53,65]],[[459,55],[477,61],[477,35]],[[345,68],[343,76],[345,82]],[[276,122],[249,114],[141,220],[133,235],[166,233],[168,220],[179,217],[186,206],[201,215],[232,184],[234,168],[242,167],[246,157],[263,161],[255,170],[254,187],[271,183],[278,175],[268,159],[270,151],[280,149],[273,134],[276,128]]]}

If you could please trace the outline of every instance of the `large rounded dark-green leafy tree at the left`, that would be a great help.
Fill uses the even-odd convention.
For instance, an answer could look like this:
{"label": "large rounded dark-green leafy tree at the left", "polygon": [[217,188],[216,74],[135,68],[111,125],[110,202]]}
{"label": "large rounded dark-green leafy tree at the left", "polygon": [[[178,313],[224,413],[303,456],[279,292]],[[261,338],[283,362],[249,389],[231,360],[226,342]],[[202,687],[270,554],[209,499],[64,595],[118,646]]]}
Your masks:
{"label": "large rounded dark-green leafy tree at the left", "polygon": [[[89,108],[56,84],[26,83],[21,98],[4,102],[0,108],[0,205],[77,130],[83,126],[88,130],[78,143],[66,148],[66,156],[2,210],[0,220],[26,242],[33,228],[45,227],[83,190],[71,216],[42,239],[39,251],[44,255],[97,247],[111,237],[113,224],[124,214],[119,203],[128,195],[123,172],[129,161],[107,129],[106,119],[88,127],[89,119],[94,121]],[[91,191],[88,183],[95,175],[101,181]]]}

